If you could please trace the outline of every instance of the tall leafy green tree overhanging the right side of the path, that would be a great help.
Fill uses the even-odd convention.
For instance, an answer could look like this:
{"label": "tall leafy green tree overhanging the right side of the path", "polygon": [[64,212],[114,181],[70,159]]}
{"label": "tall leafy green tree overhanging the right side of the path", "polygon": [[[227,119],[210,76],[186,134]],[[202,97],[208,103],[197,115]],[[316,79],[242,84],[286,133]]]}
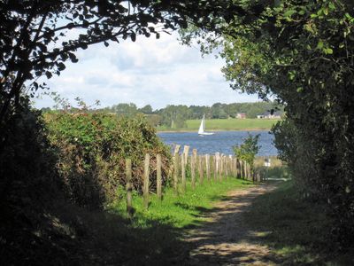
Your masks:
{"label": "tall leafy green tree overhanging the right side of the path", "polygon": [[[235,90],[275,96],[286,121],[275,144],[314,200],[336,217],[342,245],[354,236],[354,4],[352,1],[243,1],[258,12],[223,21],[223,69]],[[186,35],[186,34],[185,34]],[[192,31],[191,35],[203,35]],[[190,35],[189,35],[190,37]],[[205,49],[204,49],[205,51]]]}

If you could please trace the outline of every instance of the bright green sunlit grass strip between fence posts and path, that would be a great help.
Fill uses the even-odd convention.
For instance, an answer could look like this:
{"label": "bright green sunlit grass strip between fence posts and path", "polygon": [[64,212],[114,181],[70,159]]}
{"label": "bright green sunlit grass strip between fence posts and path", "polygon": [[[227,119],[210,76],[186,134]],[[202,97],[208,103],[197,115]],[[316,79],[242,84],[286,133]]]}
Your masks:
{"label": "bright green sunlit grass strip between fence posts and path", "polygon": [[[187,184],[187,192],[176,196],[172,188],[165,190],[164,198],[159,201],[155,194],[150,195],[148,210],[142,207],[142,197],[135,195],[133,198],[135,215],[133,226],[149,227],[150,221],[173,226],[173,228],[185,228],[195,226],[204,221],[202,212],[211,209],[212,203],[222,199],[226,192],[232,189],[242,189],[250,186],[250,182],[235,178],[228,178],[222,182],[204,181],[203,185],[196,185],[196,190]],[[126,202],[120,200],[112,206],[113,212],[127,217]]]}

